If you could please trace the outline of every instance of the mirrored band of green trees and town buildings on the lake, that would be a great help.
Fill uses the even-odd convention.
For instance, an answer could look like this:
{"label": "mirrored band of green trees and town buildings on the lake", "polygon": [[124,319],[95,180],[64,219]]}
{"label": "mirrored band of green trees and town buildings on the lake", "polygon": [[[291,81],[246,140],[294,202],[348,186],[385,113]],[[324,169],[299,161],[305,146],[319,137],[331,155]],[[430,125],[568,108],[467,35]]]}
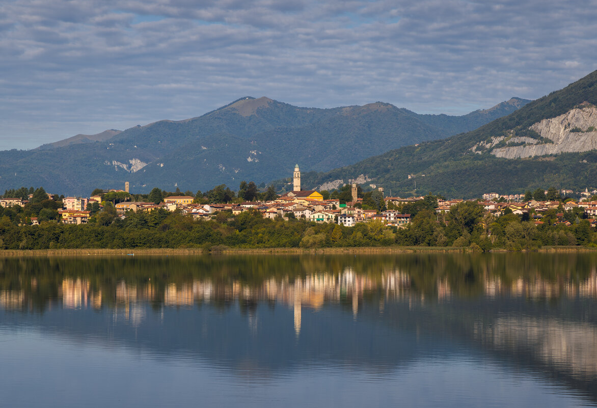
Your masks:
{"label": "mirrored band of green trees and town buildings on the lake", "polygon": [[136,302],[180,307],[241,299],[317,309],[350,298],[356,314],[370,292],[440,302],[453,296],[595,299],[596,261],[593,254],[4,259],[0,306],[43,310],[61,299],[69,309]]}

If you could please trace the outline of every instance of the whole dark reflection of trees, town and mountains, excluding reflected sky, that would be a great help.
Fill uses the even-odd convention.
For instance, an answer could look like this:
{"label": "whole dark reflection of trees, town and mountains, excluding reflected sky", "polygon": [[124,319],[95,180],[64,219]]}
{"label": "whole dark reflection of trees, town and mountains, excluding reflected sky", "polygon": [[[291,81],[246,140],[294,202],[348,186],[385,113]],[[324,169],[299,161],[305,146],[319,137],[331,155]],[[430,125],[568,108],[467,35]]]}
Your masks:
{"label": "whole dark reflection of trees, town and mountains, excluding reflected sky", "polygon": [[595,404],[596,255],[4,259],[0,329],[210,361],[248,378],[308,362],[377,379],[472,358]]}

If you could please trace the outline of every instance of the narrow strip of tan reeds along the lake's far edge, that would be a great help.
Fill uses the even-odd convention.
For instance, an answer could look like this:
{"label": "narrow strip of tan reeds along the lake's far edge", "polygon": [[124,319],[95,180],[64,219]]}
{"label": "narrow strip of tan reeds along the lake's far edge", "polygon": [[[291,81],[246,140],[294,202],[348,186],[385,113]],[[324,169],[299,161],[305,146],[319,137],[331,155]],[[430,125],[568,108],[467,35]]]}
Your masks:
{"label": "narrow strip of tan reeds along the lake's far edge", "polygon": [[[134,248],[134,249],[35,249],[35,250],[0,250],[0,259],[7,257],[67,257],[67,256],[194,256],[205,254],[392,254],[392,253],[480,253],[470,247],[332,247],[332,248]],[[506,249],[494,249],[491,252],[521,252]],[[597,252],[595,247],[549,246],[522,252]]]}

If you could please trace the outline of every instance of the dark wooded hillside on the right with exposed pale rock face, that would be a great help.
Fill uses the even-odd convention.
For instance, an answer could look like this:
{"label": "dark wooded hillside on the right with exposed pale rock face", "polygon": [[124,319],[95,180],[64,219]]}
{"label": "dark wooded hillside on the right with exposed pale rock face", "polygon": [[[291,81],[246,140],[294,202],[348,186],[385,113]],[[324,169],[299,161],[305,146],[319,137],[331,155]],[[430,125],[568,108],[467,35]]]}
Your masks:
{"label": "dark wooded hillside on the right with exposed pale rock face", "polygon": [[312,188],[360,176],[392,195],[432,191],[464,198],[549,186],[595,188],[595,105],[597,71],[468,133],[394,149],[326,173],[304,174],[302,180]]}

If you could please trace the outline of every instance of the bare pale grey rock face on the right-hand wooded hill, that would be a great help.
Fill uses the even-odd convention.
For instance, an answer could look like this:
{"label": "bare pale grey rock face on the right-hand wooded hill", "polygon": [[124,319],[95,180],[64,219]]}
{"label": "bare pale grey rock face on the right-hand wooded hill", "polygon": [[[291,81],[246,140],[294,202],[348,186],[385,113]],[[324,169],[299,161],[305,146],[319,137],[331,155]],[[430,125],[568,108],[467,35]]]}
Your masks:
{"label": "bare pale grey rock face on the right-hand wooded hill", "polygon": [[[491,154],[515,159],[597,149],[597,108],[595,106],[575,108],[564,115],[543,119],[532,125],[530,130],[536,131],[551,143],[537,143],[537,140],[533,139],[520,146],[494,148]],[[516,140],[508,140],[508,142],[512,143]]]}

